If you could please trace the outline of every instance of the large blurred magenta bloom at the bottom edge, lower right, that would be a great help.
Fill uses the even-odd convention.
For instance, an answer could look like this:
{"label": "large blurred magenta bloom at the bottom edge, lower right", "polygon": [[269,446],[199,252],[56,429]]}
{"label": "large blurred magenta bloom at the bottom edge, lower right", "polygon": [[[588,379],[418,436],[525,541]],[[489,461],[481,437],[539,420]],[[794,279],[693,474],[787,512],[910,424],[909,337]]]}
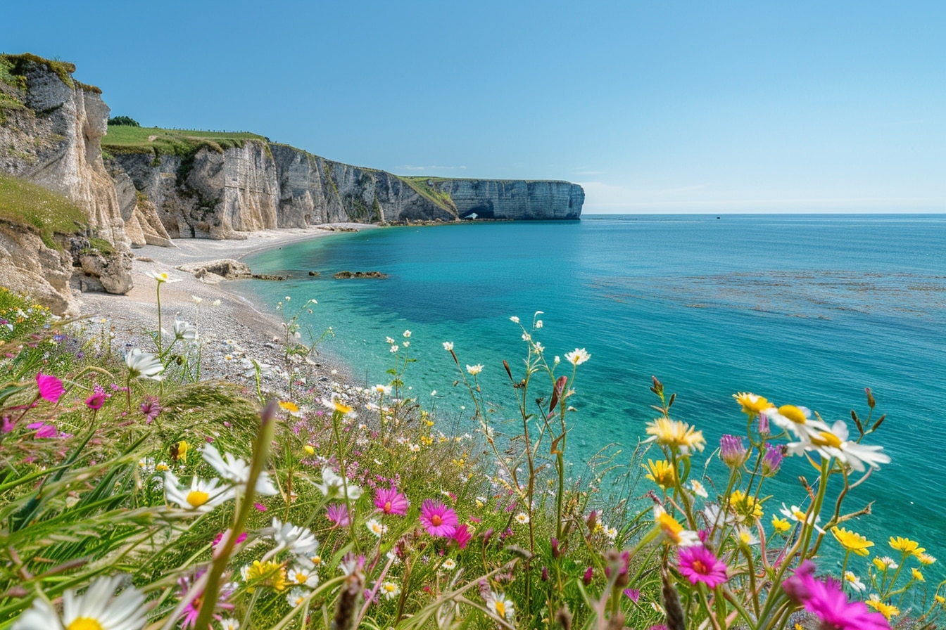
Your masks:
{"label": "large blurred magenta bloom at the bottom edge, lower right", "polygon": [[864,602],[848,602],[841,585],[832,578],[815,579],[815,565],[806,560],[782,583],[785,593],[805,610],[815,613],[822,627],[834,630],[889,630],[883,614],[870,612]]}

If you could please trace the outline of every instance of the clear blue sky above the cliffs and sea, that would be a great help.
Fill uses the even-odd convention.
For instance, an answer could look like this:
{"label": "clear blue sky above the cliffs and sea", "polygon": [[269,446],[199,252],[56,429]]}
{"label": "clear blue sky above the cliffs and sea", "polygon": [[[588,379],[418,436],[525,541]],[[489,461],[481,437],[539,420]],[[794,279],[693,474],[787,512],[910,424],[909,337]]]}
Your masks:
{"label": "clear blue sky above the cliffs and sea", "polygon": [[[7,3],[113,115],[586,213],[946,212],[946,2]],[[36,9],[31,9],[36,7]]]}

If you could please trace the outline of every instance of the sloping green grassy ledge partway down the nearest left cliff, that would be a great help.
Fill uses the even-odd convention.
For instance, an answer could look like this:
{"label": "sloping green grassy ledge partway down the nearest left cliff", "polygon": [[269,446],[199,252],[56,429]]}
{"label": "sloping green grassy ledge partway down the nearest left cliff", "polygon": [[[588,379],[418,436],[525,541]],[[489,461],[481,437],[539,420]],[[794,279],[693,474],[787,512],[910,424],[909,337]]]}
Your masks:
{"label": "sloping green grassy ledge partway down the nearest left cliff", "polygon": [[76,234],[84,229],[87,219],[79,206],[64,196],[25,179],[0,175],[0,221],[32,226],[47,247],[56,247],[54,233]]}

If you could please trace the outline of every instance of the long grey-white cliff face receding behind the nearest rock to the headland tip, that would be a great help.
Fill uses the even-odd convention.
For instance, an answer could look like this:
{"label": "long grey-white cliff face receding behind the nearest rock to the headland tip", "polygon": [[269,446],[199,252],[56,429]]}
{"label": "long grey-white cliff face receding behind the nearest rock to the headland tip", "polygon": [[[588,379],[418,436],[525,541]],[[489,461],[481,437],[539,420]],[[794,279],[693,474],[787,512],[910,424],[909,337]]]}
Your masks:
{"label": "long grey-white cliff face receding behind the nearest rock to the headland tip", "polygon": [[[172,238],[238,238],[241,231],[324,223],[577,219],[585,194],[567,181],[400,178],[287,145],[245,141],[180,158],[114,154]],[[142,218],[142,224],[147,221]],[[133,239],[132,239],[133,241]]]}

